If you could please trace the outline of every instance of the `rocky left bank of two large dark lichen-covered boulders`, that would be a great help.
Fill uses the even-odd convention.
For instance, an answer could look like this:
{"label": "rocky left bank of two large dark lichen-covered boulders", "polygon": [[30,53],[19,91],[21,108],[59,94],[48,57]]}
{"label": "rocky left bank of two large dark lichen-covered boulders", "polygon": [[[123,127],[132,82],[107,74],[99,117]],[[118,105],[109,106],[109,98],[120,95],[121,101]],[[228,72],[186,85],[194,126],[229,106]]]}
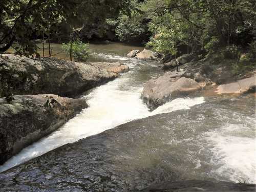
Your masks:
{"label": "rocky left bank of two large dark lichen-covered boulders", "polygon": [[[3,54],[0,58],[0,97],[3,96],[0,98],[0,164],[57,130],[88,106],[84,99],[60,96],[76,97],[126,71],[129,67],[117,62],[79,63]],[[14,97],[4,98],[7,94]]]}

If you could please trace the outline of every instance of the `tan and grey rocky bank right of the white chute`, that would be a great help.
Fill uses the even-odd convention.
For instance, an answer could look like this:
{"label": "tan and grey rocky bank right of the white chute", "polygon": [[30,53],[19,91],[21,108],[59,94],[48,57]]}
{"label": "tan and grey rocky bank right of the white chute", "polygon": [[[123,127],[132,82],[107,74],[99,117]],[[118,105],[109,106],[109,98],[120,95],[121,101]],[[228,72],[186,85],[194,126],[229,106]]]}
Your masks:
{"label": "tan and grey rocky bank right of the white chute", "polygon": [[[129,54],[133,56],[138,53],[133,50]],[[255,92],[255,66],[255,71],[236,75],[230,64],[234,61],[219,57],[220,55],[215,54],[200,59],[193,54],[184,54],[177,59],[159,62],[161,69],[170,71],[146,82],[141,94],[143,102],[154,110],[170,100],[193,96],[201,90],[216,90],[212,91],[213,94]]]}

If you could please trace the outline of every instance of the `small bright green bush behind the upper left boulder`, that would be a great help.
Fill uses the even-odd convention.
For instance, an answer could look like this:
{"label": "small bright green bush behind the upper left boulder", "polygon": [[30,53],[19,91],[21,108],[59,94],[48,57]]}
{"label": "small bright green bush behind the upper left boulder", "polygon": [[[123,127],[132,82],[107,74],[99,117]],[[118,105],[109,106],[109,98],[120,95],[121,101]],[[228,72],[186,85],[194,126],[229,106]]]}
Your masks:
{"label": "small bright green bush behind the upper left boulder", "polygon": [[89,44],[84,44],[81,40],[70,41],[62,44],[62,49],[67,55],[74,57],[75,61],[86,61],[89,57]]}

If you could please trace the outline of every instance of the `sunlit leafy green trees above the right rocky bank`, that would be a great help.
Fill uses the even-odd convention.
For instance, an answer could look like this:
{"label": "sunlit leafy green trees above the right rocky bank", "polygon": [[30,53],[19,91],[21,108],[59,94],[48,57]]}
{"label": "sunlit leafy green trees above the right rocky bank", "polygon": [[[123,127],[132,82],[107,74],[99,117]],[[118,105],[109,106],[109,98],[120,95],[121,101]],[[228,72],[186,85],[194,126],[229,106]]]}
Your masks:
{"label": "sunlit leafy green trees above the right rocky bank", "polygon": [[[249,49],[251,56],[255,55],[254,0],[135,2],[140,12],[118,18],[116,33],[120,40],[127,40],[128,33],[132,34],[130,38],[151,33],[147,45],[164,54],[208,53],[236,46],[239,50]],[[147,23],[147,28],[142,21]]]}

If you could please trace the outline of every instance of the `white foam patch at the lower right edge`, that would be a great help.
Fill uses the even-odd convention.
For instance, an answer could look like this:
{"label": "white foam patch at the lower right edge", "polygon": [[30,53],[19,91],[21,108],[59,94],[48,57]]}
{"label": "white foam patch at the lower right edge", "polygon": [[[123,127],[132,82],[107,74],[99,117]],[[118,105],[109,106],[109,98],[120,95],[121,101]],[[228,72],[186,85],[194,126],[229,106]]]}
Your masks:
{"label": "white foam patch at the lower right edge", "polygon": [[[255,123],[252,119],[247,120]],[[213,170],[215,174],[234,182],[256,183],[256,129],[253,124],[226,124],[208,133],[207,139],[214,143],[212,163],[221,165]]]}

